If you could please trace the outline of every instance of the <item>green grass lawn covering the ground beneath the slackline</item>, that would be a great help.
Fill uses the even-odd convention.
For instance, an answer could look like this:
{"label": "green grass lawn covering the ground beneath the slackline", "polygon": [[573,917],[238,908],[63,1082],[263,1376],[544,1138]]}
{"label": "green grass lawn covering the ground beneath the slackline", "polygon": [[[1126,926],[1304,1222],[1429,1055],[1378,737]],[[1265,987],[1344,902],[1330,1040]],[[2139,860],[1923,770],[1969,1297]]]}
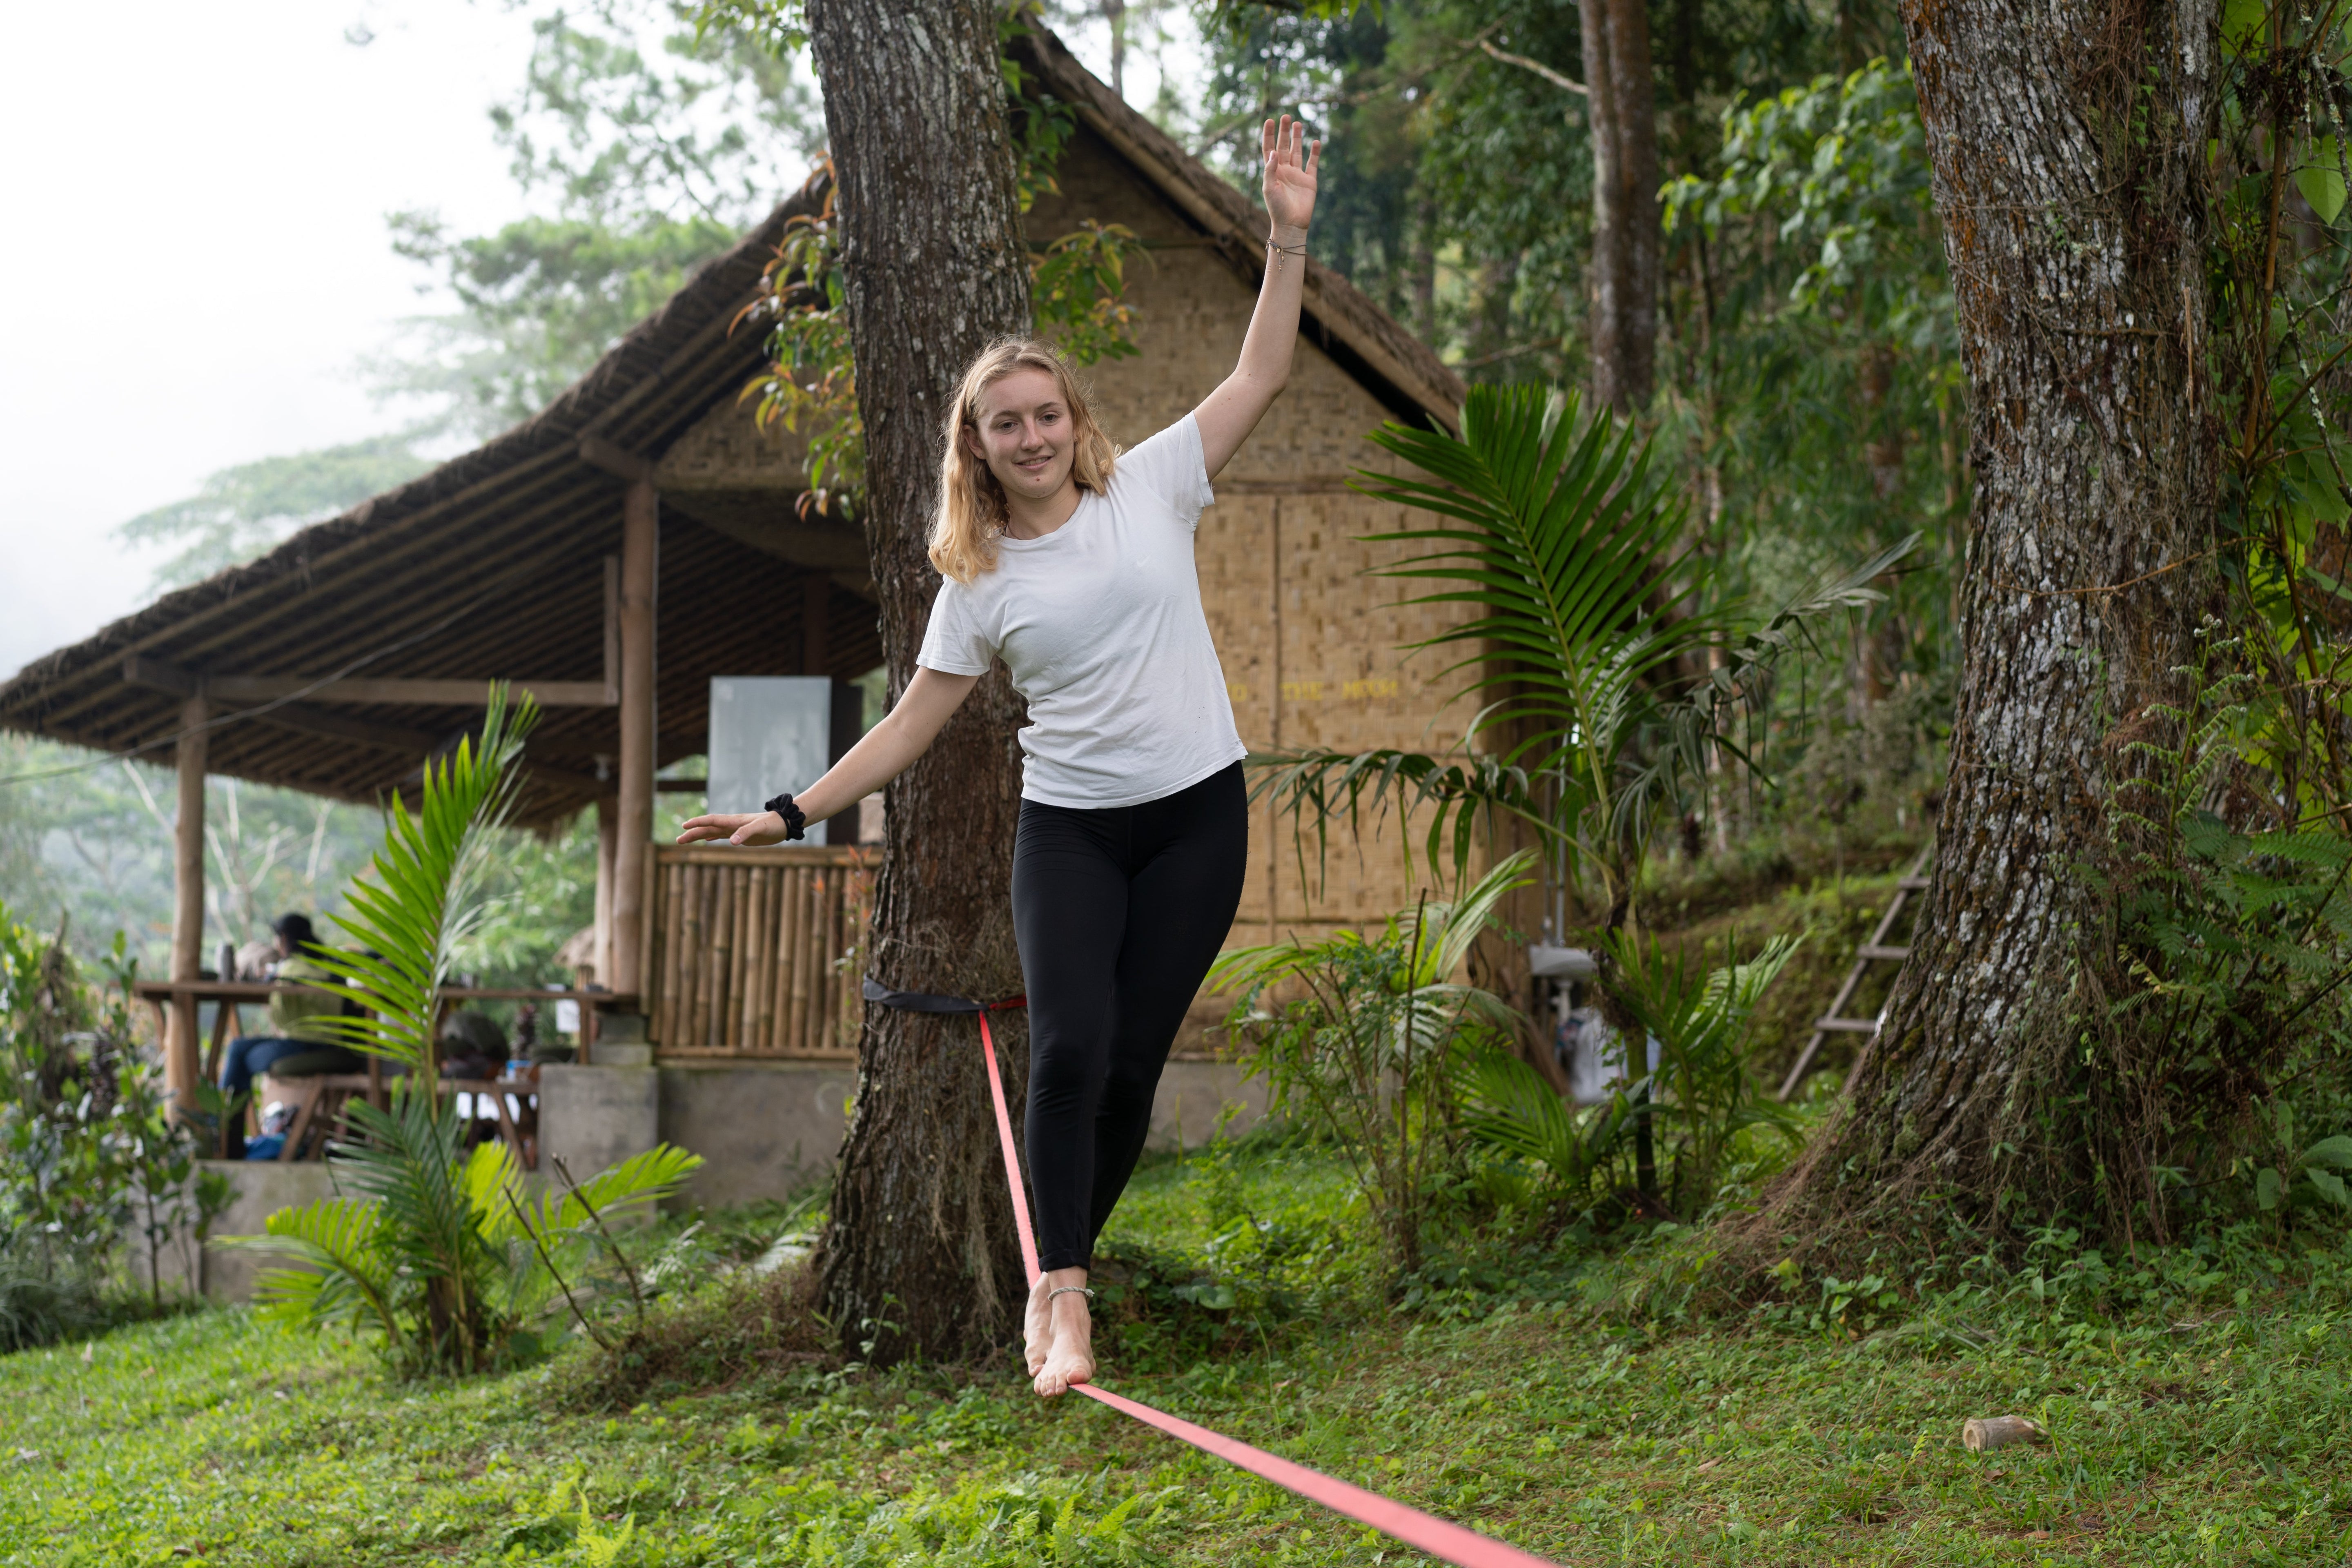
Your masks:
{"label": "green grass lawn covering the ground beneath the slackline", "polygon": [[[1867,1316],[1877,1291],[1828,1319],[1818,1284],[1771,1321],[1708,1326],[1625,1326],[1573,1286],[1555,1302],[1463,1286],[1390,1314],[1367,1305],[1343,1194],[1296,1147],[1148,1166],[1122,1211],[1122,1244],[1157,1260],[1138,1267],[1167,1272],[1162,1293],[1242,1300],[1122,1331],[1105,1385],[1562,1563],[2352,1549],[2340,1246],[2237,1237],[2145,1269],[2051,1246],[1966,1288],[1955,1269],[1886,1321]],[[553,1399],[576,1373],[400,1385],[365,1347],[247,1312],[7,1356],[0,1561],[1418,1561],[1101,1406],[1040,1403],[1009,1361],[786,1361],[616,1415]],[[1964,1453],[1962,1420],[1999,1413],[2053,1441]]]}

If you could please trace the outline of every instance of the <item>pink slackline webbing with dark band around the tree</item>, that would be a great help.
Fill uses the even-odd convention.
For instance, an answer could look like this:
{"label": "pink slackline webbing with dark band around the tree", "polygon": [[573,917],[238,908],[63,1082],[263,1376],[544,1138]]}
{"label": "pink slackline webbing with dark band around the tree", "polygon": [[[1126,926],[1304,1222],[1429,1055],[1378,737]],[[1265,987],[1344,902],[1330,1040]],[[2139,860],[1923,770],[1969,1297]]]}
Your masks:
{"label": "pink slackline webbing with dark band around the tree", "polygon": [[[880,1001],[882,1006],[896,1006],[910,1013],[978,1013],[981,1018],[981,1056],[988,1058],[988,1098],[995,1103],[997,1112],[997,1145],[1004,1150],[1004,1185],[1014,1199],[1014,1225],[1021,1232],[1021,1267],[1028,1269],[1030,1284],[1037,1284],[1037,1237],[1030,1232],[1028,1220],[1028,1190],[1021,1182],[1021,1154],[1014,1150],[1014,1119],[1011,1110],[1004,1105],[1004,1074],[997,1070],[997,1039],[988,1027],[988,1013],[1025,1006],[1023,997],[1009,997],[1004,1001],[967,1001],[964,997],[934,997],[929,992],[894,992],[877,985],[870,976],[866,980],[866,999]],[[1209,1432],[1207,1427],[1195,1427],[1188,1420],[1178,1420],[1167,1410],[1155,1410],[1148,1403],[1112,1394],[1091,1382],[1073,1382],[1073,1394],[1084,1394],[1087,1399],[1110,1406],[1120,1415],[1131,1415],[1145,1427],[1157,1427],[1174,1439],[1192,1443],[1207,1455],[1237,1465],[1254,1476],[1272,1481],[1310,1502],[1319,1502],[1336,1514],[1345,1514],[1357,1523],[1369,1523],[1374,1530],[1395,1535],[1406,1547],[1418,1547],[1435,1559],[1456,1563],[1456,1568],[1557,1568],[1550,1559],[1534,1556],[1531,1552],[1519,1552],[1517,1547],[1505,1547],[1491,1535],[1479,1535],[1477,1530],[1463,1528],[1435,1514],[1423,1514],[1421,1509],[1404,1507],[1392,1497],[1381,1493],[1367,1493],[1362,1486],[1348,1486],[1336,1481],[1319,1469],[1308,1469],[1305,1465],[1294,1465],[1277,1453],[1265,1453],[1263,1448],[1251,1448],[1240,1443],[1223,1432]]]}

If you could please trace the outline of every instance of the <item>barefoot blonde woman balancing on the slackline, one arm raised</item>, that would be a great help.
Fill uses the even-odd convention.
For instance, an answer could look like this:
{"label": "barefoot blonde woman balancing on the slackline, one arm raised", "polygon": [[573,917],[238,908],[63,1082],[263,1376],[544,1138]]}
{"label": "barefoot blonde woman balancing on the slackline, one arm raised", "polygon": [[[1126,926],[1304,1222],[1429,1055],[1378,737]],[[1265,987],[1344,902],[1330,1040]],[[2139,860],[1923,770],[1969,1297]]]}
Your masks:
{"label": "barefoot blonde woman balancing on the slackline, one arm raised", "polygon": [[1263,127],[1265,284],[1242,360],[1185,418],[1120,454],[1042,343],[983,353],[957,393],[915,679],[802,795],[699,816],[682,842],[774,844],[847,811],[938,736],[995,658],[1028,698],[1014,936],[1030,1013],[1028,1159],[1044,1276],[1040,1394],[1094,1375],[1087,1265],[1150,1131],[1176,1027],[1242,898],[1242,738],[1209,642],[1192,534],[1209,482],[1291,374],[1322,143]]}

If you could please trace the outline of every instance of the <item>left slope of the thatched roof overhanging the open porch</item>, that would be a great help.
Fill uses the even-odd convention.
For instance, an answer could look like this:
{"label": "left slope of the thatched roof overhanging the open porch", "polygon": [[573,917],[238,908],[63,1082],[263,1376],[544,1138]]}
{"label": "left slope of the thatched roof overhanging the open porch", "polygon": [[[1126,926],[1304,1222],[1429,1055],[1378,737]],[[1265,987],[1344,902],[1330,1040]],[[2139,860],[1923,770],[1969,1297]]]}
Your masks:
{"label": "left slope of the thatched roof overhanging the open porch", "polygon": [[[604,557],[621,548],[623,482],[595,456],[659,458],[731,402],[762,362],[762,334],[729,334],[802,190],[703,266],[534,418],[433,473],[313,524],[261,559],[181,588],[0,686],[0,726],[129,750],[179,729],[181,698],[127,679],[127,661],[165,672],[245,677],[492,675],[602,682]],[[788,498],[779,501],[788,510]],[[703,748],[710,675],[797,672],[807,569],[694,527],[663,501],[659,759]],[[684,524],[684,527],[682,527]],[[873,609],[833,588],[835,675],[880,663]],[[287,703],[209,736],[209,771],[341,799],[374,799],[477,722],[475,705]],[[614,708],[553,708],[529,748],[527,816],[569,813],[609,790]],[[146,750],[172,762],[169,745]]]}

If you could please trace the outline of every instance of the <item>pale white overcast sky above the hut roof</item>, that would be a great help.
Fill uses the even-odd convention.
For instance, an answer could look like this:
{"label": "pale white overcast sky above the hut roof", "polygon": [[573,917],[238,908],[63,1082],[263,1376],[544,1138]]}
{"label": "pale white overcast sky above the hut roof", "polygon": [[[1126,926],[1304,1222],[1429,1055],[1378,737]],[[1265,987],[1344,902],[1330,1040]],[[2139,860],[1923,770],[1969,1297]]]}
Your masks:
{"label": "pale white overcast sky above the hut roof", "polygon": [[[440,301],[383,214],[437,207],[459,233],[522,216],[487,108],[522,80],[532,14],[122,0],[92,31],[82,7],[12,7],[0,677],[148,602],[155,559],[111,538],[122,520],[395,423],[355,364]],[[1101,38],[1070,45],[1108,75]],[[1155,92],[1131,61],[1129,99]]]}

